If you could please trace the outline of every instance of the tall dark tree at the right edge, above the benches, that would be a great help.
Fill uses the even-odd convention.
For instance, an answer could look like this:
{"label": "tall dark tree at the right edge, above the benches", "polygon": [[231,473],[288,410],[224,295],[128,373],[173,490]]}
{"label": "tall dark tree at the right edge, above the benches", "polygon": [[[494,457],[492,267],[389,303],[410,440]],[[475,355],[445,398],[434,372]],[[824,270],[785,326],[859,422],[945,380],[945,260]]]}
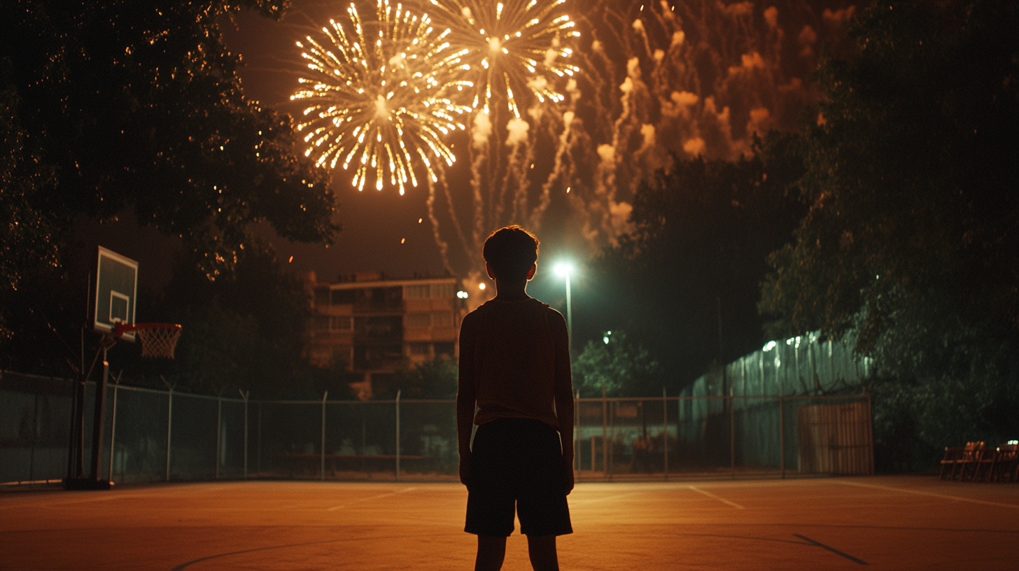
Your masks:
{"label": "tall dark tree at the right edge, above the benches", "polygon": [[810,209],[762,289],[776,332],[852,333],[875,359],[877,444],[914,465],[1019,429],[1017,16],[998,0],[861,13],[858,53],[820,65]]}

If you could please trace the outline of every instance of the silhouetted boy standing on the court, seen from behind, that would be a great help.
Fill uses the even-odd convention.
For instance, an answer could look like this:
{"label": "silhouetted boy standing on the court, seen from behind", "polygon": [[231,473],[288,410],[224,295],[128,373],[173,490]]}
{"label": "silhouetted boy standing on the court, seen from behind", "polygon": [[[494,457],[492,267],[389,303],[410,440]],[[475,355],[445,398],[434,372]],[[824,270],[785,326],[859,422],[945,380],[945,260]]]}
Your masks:
{"label": "silhouetted boy standing on the court, seen from behind", "polygon": [[560,313],[526,293],[538,244],[520,226],[488,237],[482,253],[496,296],[460,329],[457,432],[468,488],[464,530],[478,535],[475,571],[502,567],[515,509],[535,571],[558,571],[555,536],[573,533],[569,332]]}

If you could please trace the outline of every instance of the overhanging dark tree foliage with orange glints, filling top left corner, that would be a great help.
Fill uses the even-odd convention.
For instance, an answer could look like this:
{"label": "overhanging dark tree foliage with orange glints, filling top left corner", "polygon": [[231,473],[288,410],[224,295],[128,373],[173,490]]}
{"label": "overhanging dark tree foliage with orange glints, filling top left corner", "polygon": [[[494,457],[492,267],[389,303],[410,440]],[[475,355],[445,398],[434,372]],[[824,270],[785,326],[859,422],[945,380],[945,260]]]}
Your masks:
{"label": "overhanging dark tree foliage with orange glints, filling top left corner", "polygon": [[[239,56],[217,24],[243,8],[278,16],[284,4],[0,4],[3,126],[16,129],[22,149],[10,160],[53,176],[18,193],[5,174],[3,202],[22,197],[57,228],[132,207],[143,225],[183,239],[210,276],[229,271],[253,222],[330,242],[327,172],[294,154],[289,117],[244,96]],[[66,240],[56,229],[48,238]],[[5,237],[3,246],[23,240]]]}

